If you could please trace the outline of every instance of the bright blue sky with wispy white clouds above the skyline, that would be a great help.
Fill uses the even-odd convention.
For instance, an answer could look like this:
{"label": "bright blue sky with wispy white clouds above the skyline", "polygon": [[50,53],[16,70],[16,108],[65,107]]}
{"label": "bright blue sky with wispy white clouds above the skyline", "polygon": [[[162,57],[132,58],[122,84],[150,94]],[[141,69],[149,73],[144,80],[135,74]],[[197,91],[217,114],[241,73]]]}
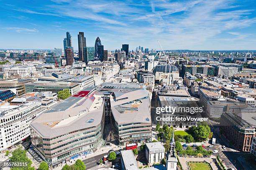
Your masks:
{"label": "bright blue sky with wispy white clouds above the skyline", "polygon": [[0,0],[0,48],[256,50],[256,0]]}

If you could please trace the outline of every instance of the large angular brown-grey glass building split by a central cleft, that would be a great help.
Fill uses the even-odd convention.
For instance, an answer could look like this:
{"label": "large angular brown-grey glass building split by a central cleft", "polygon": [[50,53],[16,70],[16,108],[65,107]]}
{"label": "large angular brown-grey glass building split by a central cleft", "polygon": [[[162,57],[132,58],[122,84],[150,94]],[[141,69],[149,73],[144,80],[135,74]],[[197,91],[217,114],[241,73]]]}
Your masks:
{"label": "large angular brown-grey glass building split by a central cleft", "polygon": [[87,87],[41,114],[30,127],[33,146],[52,166],[92,153],[104,141],[148,142],[148,92],[138,85],[114,83]]}

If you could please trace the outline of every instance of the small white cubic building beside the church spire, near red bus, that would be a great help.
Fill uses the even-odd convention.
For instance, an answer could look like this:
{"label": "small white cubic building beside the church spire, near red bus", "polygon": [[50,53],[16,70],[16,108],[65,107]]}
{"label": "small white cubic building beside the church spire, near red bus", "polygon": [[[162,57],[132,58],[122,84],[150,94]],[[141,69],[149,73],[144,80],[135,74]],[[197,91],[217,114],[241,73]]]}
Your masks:
{"label": "small white cubic building beside the church spire, near red bus", "polygon": [[161,142],[146,143],[145,157],[148,163],[158,163],[164,159],[164,146]]}

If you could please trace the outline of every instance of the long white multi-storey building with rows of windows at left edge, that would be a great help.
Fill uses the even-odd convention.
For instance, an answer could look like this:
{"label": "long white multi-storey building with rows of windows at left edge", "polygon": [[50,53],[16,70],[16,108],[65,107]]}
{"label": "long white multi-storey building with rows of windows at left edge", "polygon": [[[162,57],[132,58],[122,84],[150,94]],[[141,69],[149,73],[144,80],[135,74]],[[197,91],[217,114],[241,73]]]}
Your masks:
{"label": "long white multi-storey building with rows of windows at left edge", "polygon": [[29,124],[46,110],[46,107],[42,107],[40,101],[27,102],[26,99],[20,99],[20,101],[22,102],[13,105],[9,103],[0,104],[1,153],[30,136]]}

